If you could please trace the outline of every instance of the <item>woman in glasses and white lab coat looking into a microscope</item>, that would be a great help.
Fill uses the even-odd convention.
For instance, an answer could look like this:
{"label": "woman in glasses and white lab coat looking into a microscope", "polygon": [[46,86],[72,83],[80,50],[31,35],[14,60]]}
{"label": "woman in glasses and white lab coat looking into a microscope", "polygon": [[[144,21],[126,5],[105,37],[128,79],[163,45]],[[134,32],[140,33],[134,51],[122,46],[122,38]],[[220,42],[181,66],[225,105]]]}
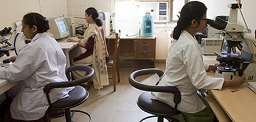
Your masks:
{"label": "woman in glasses and white lab coat looking into a microscope", "polygon": [[[169,47],[166,59],[165,76],[159,86],[176,86],[180,90],[181,101],[177,109],[182,114],[172,116],[179,121],[212,122],[214,114],[207,101],[197,95],[197,89],[222,89],[239,86],[244,83],[245,76],[236,73],[234,80],[211,78],[206,75],[202,60],[202,49],[194,35],[204,32],[207,26],[207,7],[202,2],[188,2],[182,7],[177,26],[174,28],[175,39]],[[163,101],[174,107],[171,93],[152,92],[152,98]]]}

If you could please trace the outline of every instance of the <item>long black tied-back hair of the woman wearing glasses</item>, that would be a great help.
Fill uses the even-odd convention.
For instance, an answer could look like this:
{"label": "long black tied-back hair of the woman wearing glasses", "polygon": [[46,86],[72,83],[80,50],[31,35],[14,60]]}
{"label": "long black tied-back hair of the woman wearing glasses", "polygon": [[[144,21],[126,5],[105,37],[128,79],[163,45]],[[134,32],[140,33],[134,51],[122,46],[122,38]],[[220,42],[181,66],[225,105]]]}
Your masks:
{"label": "long black tied-back hair of the woman wearing glasses", "polygon": [[[199,21],[203,18],[207,7],[199,1],[191,1],[185,4],[180,11],[180,18],[173,31],[173,38],[179,39],[182,30],[187,29],[193,19]],[[199,21],[200,24],[200,21]]]}

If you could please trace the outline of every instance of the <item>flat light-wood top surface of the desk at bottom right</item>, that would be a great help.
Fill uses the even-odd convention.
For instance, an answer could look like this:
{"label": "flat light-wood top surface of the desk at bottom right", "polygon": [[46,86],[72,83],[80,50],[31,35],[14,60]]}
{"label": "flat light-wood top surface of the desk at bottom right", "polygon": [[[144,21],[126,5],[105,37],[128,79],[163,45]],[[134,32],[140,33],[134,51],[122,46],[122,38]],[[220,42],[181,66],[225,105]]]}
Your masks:
{"label": "flat light-wood top surface of the desk at bottom right", "polygon": [[232,121],[256,121],[256,94],[247,87],[247,83],[229,89],[210,90],[210,93]]}

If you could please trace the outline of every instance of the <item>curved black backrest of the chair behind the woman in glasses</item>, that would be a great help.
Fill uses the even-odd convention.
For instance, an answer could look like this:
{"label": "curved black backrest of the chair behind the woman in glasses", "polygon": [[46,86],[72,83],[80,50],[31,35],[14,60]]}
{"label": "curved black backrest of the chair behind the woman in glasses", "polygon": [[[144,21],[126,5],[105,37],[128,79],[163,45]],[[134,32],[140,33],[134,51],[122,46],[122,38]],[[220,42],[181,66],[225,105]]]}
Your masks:
{"label": "curved black backrest of the chair behind the woman in glasses", "polygon": [[[129,83],[140,90],[146,90],[146,91],[151,91],[151,92],[168,92],[168,93],[173,93],[174,94],[174,103],[175,109],[177,109],[177,104],[180,103],[181,100],[181,95],[179,89],[175,86],[155,86],[155,85],[149,85],[149,84],[142,84],[139,83],[138,81],[135,80],[137,76],[141,75],[149,75],[149,74],[155,74],[157,73],[158,76],[162,76],[164,73],[160,69],[141,69],[141,70],[136,70],[132,72],[129,76]],[[157,81],[156,81],[157,82]]]}

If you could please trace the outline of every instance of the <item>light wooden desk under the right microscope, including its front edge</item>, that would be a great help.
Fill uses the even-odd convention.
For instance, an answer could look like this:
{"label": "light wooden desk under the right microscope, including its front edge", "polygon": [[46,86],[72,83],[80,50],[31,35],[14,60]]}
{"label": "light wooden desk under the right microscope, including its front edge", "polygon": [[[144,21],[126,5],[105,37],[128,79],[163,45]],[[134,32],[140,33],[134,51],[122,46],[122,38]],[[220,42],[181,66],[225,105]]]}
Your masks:
{"label": "light wooden desk under the right microscope, including its front edge", "polygon": [[[214,77],[215,73],[207,72],[207,75]],[[238,87],[210,90],[206,100],[219,122],[228,122],[226,115],[235,122],[256,121],[256,93],[247,87],[247,83]]]}

